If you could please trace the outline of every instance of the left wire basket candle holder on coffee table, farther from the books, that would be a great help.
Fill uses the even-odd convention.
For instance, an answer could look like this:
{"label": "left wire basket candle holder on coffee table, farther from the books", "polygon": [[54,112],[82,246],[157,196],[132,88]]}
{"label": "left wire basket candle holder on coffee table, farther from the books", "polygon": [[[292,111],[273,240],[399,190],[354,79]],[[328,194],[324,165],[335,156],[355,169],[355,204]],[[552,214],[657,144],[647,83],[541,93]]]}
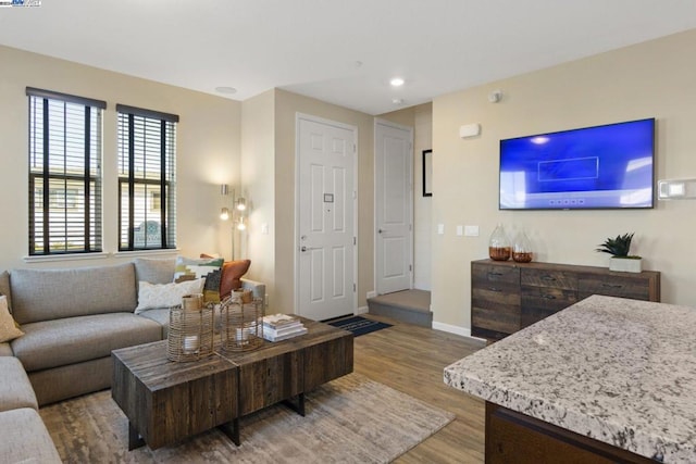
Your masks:
{"label": "left wire basket candle holder on coffee table, farther from the books", "polygon": [[170,361],[197,361],[213,353],[212,305],[200,310],[170,308],[166,358]]}

